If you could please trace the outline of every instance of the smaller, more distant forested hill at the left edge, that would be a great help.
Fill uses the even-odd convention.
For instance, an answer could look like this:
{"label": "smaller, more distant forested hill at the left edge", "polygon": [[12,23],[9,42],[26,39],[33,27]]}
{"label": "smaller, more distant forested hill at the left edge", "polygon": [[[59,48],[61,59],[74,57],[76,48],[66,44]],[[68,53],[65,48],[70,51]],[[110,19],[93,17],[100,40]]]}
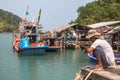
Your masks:
{"label": "smaller, more distant forested hill at the left edge", "polygon": [[17,15],[0,9],[0,32],[12,32],[19,27],[20,21]]}

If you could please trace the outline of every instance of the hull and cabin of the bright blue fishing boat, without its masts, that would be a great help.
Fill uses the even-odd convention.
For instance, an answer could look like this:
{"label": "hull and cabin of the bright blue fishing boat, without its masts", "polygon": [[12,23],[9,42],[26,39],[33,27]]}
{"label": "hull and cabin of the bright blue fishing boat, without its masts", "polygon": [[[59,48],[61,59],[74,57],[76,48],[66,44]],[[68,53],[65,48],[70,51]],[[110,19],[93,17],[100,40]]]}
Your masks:
{"label": "hull and cabin of the bright blue fishing boat, without its masts", "polygon": [[[30,22],[32,23],[32,22]],[[41,54],[48,46],[39,43],[36,25],[22,26],[24,32],[14,33],[13,48],[20,54]]]}

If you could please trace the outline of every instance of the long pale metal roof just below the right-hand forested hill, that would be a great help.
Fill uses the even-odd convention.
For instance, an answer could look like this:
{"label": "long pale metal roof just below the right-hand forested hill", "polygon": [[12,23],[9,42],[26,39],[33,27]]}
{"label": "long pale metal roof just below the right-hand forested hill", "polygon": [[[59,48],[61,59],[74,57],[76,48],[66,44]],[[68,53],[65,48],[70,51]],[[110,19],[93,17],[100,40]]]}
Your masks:
{"label": "long pale metal roof just below the right-hand forested hill", "polygon": [[104,26],[108,26],[108,25],[117,24],[117,23],[120,23],[120,21],[100,22],[100,23],[87,25],[87,27],[90,27],[90,28],[100,28],[100,27],[104,27]]}

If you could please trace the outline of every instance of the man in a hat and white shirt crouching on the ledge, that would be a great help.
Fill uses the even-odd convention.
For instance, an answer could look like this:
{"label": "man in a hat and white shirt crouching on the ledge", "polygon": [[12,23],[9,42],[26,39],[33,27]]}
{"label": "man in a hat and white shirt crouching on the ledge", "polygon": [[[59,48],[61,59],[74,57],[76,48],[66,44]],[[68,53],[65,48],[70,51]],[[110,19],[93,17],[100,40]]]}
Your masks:
{"label": "man in a hat and white shirt crouching on the ledge", "polygon": [[104,69],[108,66],[115,66],[115,57],[111,45],[104,39],[101,39],[101,34],[96,30],[89,30],[87,39],[92,41],[90,47],[84,47],[88,53],[93,52],[98,60],[96,68]]}

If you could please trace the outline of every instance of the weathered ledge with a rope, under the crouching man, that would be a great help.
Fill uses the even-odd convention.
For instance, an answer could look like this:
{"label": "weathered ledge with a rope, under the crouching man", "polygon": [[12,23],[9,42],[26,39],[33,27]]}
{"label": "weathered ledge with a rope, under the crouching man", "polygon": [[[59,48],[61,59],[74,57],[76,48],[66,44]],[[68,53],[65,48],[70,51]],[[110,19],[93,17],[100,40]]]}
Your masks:
{"label": "weathered ledge with a rope, under the crouching man", "polygon": [[75,80],[120,80],[120,65],[102,71],[83,68]]}

